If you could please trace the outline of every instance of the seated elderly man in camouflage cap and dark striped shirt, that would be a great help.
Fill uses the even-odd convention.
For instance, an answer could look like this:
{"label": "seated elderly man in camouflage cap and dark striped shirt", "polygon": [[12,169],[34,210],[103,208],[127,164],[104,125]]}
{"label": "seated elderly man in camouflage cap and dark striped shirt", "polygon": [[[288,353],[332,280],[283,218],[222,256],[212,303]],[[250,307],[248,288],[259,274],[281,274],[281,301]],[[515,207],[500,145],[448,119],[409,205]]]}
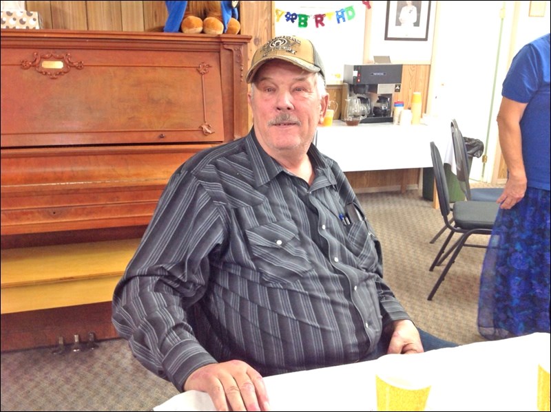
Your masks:
{"label": "seated elderly man in camouflage cap and dark striped shirt", "polygon": [[329,97],[311,41],[272,39],[247,83],[253,129],[172,175],[114,292],[136,358],[219,411],[268,411],[262,376],[453,345],[422,343],[349,182],[312,144]]}

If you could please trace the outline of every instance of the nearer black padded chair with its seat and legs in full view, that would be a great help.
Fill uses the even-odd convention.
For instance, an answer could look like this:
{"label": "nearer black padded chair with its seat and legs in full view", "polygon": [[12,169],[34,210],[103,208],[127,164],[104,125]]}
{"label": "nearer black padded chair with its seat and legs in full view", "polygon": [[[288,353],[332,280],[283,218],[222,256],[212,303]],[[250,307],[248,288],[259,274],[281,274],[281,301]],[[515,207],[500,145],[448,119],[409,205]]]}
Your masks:
{"label": "nearer black padded chair with its seat and legs in full view", "polygon": [[[444,172],[444,164],[442,164],[440,152],[438,151],[435,142],[430,142],[430,155],[433,160],[433,171],[435,175],[440,213],[444,219],[445,227],[450,230],[450,234],[446,237],[446,240],[438,251],[432,265],[430,265],[429,271],[433,272],[434,268],[444,263],[446,258],[451,254],[448,262],[446,263],[446,267],[442,270],[440,277],[433,287],[433,290],[428,295],[427,299],[432,301],[433,296],[442,281],[444,281],[446,274],[448,274],[448,271],[464,246],[486,248],[486,246],[468,244],[466,241],[470,235],[492,234],[492,228],[494,226],[497,211],[499,210],[499,204],[495,202],[472,202],[470,200],[460,200],[455,202],[452,210],[450,207],[450,195],[448,192],[448,184],[446,182],[446,174]],[[451,218],[448,217],[450,212],[452,212]],[[448,244],[456,233],[459,234],[459,239],[457,239],[457,241],[455,241],[455,243],[448,248]]]}

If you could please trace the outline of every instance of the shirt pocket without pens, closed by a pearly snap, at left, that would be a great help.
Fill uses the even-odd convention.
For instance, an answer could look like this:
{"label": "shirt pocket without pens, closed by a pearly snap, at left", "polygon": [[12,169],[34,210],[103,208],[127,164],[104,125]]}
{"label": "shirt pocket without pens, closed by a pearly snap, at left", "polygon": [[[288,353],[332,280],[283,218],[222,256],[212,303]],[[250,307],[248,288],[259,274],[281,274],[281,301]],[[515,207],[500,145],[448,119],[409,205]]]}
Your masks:
{"label": "shirt pocket without pens, closed by a pearly snap, at left", "polygon": [[245,232],[251,259],[267,283],[293,283],[312,269],[292,220],[273,221]]}

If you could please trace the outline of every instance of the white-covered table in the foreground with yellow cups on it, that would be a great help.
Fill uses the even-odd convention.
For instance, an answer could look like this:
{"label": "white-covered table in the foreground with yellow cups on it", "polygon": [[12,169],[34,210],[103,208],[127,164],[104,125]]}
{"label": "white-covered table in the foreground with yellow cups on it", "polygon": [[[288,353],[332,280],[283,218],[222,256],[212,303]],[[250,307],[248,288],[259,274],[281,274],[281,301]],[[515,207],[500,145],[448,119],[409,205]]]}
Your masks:
{"label": "white-covered table in the foreground with yellow cups on it", "polygon": [[[537,365],[549,334],[471,343],[424,354],[432,411],[535,411]],[[378,360],[264,378],[273,411],[375,411]],[[214,411],[206,393],[180,393],[155,411]]]}

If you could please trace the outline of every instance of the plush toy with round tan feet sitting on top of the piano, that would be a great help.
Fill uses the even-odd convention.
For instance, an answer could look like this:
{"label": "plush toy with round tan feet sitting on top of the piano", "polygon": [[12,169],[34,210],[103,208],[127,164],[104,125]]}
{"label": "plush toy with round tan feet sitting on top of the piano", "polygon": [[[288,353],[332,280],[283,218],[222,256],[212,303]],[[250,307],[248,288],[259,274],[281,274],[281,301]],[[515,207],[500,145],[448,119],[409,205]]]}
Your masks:
{"label": "plush toy with round tan feet sitting on top of the piano", "polygon": [[165,32],[237,34],[238,1],[165,1]]}

